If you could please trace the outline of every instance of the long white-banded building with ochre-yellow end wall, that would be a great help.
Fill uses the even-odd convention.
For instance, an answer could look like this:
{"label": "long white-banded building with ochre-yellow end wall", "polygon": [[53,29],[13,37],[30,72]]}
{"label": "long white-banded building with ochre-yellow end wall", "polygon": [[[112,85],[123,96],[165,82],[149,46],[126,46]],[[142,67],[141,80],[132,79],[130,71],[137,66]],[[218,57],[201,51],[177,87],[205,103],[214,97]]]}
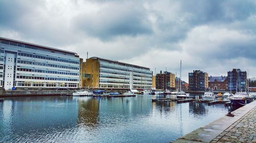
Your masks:
{"label": "long white-banded building with ochre-yellow end wall", "polygon": [[83,63],[83,88],[152,89],[150,68],[98,57]]}

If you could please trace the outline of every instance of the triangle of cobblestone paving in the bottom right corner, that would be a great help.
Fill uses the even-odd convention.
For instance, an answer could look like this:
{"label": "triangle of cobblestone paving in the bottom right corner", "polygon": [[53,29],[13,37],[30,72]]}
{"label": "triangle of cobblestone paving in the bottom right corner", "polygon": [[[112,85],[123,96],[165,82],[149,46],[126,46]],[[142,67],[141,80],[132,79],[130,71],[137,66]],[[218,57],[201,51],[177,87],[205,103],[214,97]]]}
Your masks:
{"label": "triangle of cobblestone paving in the bottom right corner", "polygon": [[211,142],[256,142],[256,107]]}

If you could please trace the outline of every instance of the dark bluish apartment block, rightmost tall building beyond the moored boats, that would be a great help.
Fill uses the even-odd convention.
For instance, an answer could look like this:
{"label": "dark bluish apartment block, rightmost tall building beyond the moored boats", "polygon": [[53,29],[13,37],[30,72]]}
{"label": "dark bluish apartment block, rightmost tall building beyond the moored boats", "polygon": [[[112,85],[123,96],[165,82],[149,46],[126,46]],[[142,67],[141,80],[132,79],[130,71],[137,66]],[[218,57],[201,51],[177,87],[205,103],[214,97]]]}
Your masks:
{"label": "dark bluish apartment block, rightmost tall building beyond the moored boats", "polygon": [[233,69],[227,72],[228,75],[228,90],[245,91],[247,89],[247,72],[240,69]]}

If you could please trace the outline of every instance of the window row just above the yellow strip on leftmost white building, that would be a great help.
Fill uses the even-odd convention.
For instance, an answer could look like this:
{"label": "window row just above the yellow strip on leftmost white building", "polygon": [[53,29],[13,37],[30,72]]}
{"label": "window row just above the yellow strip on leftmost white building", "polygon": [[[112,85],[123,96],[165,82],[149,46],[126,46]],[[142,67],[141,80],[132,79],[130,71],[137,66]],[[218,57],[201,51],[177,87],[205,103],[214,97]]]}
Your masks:
{"label": "window row just above the yellow strip on leftmost white building", "polygon": [[76,79],[76,78],[59,78],[59,77],[42,77],[42,76],[24,76],[24,75],[17,75],[16,78],[20,78],[20,79],[39,79],[39,80],[79,81],[79,79]]}

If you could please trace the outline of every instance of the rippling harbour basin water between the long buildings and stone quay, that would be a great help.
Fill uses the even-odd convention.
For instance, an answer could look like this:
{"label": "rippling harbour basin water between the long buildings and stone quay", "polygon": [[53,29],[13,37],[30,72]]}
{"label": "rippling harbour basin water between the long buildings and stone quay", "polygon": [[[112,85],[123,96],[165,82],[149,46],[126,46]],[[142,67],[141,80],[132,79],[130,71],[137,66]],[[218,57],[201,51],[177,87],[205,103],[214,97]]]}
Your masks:
{"label": "rippling harbour basin water between the long buildings and stone quay", "polygon": [[0,102],[0,142],[169,142],[228,111],[223,104],[124,98],[12,97]]}

